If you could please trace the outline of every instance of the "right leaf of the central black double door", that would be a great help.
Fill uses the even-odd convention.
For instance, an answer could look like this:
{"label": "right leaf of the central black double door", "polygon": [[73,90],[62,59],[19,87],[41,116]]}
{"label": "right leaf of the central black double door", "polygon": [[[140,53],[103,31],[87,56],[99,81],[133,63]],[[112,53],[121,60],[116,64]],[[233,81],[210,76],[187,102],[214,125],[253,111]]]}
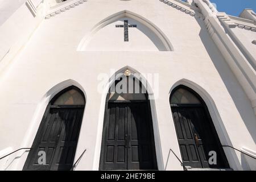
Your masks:
{"label": "right leaf of the central black double door", "polygon": [[[128,169],[155,169],[154,135],[151,134],[151,118],[148,118],[147,102],[128,106]],[[152,150],[152,148],[154,150]]]}

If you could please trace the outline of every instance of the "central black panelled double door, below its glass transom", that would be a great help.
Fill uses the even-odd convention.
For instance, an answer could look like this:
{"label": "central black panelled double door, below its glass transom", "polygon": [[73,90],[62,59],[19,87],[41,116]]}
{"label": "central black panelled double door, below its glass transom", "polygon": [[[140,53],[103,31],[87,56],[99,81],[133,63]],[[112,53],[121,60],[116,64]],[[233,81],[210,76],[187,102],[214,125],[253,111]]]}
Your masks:
{"label": "central black panelled double door, below its glass transom", "polygon": [[148,101],[108,102],[100,169],[157,169]]}

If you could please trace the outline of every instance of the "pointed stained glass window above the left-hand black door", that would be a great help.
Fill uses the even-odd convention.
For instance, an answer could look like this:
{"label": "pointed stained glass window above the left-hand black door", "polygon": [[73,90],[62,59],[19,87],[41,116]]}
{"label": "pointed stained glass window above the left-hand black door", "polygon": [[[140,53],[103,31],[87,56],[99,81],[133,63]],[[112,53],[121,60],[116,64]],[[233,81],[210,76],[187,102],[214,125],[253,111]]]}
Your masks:
{"label": "pointed stained glass window above the left-hand black door", "polygon": [[61,94],[53,105],[85,105],[85,101],[81,93],[76,89],[71,89]]}

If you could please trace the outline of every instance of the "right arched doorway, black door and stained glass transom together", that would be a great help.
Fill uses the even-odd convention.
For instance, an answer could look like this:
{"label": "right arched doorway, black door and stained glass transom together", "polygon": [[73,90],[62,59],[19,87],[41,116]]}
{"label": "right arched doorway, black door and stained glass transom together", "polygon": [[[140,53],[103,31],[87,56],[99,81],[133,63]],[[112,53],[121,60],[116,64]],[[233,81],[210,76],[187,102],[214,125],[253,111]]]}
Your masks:
{"label": "right arched doorway, black door and stained glass transom together", "polygon": [[207,105],[199,94],[187,86],[177,86],[172,90],[170,105],[184,166],[229,168]]}

